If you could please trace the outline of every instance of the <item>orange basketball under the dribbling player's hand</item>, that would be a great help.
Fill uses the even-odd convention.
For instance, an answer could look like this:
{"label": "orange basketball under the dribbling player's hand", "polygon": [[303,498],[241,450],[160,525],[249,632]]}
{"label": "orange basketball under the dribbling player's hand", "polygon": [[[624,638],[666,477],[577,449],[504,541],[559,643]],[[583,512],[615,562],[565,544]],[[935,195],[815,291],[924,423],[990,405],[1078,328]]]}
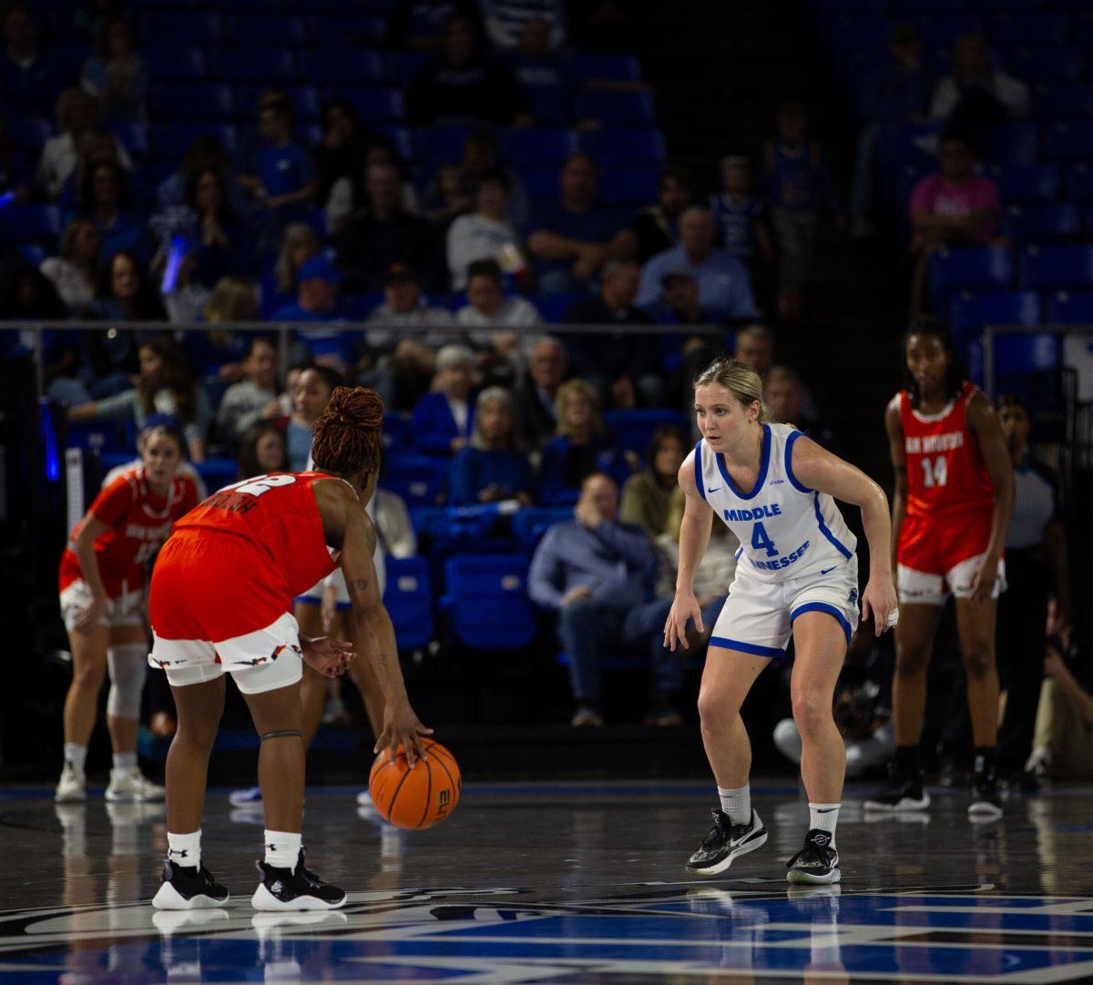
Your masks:
{"label": "orange basketball under the dribbling player's hand", "polygon": [[442,746],[422,740],[427,759],[411,770],[402,746],[391,762],[385,749],[372,764],[368,793],[385,821],[399,828],[432,828],[448,817],[459,803],[460,774],[456,758]]}

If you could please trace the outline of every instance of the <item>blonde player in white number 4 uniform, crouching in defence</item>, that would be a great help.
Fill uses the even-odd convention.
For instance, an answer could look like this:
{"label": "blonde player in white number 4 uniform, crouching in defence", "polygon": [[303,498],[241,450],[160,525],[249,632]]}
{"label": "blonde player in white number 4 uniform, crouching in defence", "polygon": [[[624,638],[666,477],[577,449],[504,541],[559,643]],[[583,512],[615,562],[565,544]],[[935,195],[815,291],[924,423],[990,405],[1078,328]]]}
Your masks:
{"label": "blonde player in white number 4 uniform, crouching in defence", "polygon": [[740,707],[760,672],[785,656],[792,634],[790,689],[810,822],[786,878],[823,885],[839,880],[835,826],[846,772],[832,698],[858,622],[857,542],[832,497],[861,508],[870,557],[861,618],[871,615],[878,634],[896,617],[891,521],[888,497],[877,483],[792,425],[772,424],[762,393],[760,377],[749,366],[736,359],[713,363],[694,384],[703,438],[679,473],[686,506],[666,645],[686,649],[690,619],[703,629],[692,584],[715,515],[741,545],[698,692],[702,739],[720,809],[687,868],[714,875],[766,842],[766,829],[751,806],[751,745]]}

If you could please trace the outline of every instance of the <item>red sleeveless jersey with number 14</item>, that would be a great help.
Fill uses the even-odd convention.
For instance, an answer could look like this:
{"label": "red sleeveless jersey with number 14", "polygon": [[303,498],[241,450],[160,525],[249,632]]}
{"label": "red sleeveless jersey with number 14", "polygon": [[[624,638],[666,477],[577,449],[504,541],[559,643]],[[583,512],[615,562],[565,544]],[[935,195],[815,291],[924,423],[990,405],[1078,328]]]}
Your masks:
{"label": "red sleeveless jersey with number 14", "polygon": [[991,510],[995,487],[967,426],[967,404],[979,391],[966,382],[940,414],[926,415],[900,393],[900,424],[907,459],[907,515],[937,518]]}

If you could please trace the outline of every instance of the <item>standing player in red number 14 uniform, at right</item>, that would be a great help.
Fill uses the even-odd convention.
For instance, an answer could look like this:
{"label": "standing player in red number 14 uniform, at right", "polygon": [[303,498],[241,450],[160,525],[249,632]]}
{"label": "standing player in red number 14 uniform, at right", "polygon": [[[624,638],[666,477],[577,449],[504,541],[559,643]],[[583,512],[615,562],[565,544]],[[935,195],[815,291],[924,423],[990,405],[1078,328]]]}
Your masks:
{"label": "standing player in red number 14 uniform, at right", "polygon": [[907,388],[885,414],[896,474],[896,756],[889,786],[865,807],[901,811],[930,805],[918,747],[927,668],[941,607],[951,593],[975,745],[968,817],[990,819],[1001,815],[995,775],[995,624],[996,600],[1006,588],[1002,547],[1013,511],[1013,466],[994,407],[964,379],[949,331],[933,319],[919,319],[907,333],[904,353]]}

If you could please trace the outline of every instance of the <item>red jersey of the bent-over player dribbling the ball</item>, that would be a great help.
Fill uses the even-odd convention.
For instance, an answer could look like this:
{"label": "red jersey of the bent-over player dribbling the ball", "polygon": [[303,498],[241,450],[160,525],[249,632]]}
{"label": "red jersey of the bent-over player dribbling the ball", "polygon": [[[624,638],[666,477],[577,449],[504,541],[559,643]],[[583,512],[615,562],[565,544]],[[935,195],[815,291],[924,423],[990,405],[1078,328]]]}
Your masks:
{"label": "red jersey of the bent-over player dribbling the ball", "polygon": [[176,529],[246,537],[281,572],[290,596],[301,595],[338,567],[312,491],[319,479],[332,478],[322,472],[274,472],[244,479],[199,503]]}

